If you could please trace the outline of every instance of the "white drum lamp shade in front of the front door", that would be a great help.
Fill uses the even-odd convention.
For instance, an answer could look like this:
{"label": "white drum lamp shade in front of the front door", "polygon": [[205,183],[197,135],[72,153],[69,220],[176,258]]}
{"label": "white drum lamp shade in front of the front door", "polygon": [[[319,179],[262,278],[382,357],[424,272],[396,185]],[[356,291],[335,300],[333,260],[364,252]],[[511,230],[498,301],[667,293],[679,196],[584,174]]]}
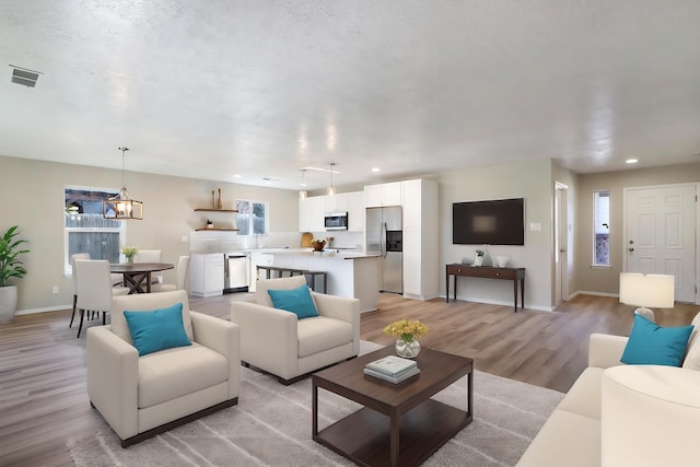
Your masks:
{"label": "white drum lamp shade in front of the front door", "polygon": [[654,308],[674,306],[675,278],[669,275],[620,273],[620,302]]}

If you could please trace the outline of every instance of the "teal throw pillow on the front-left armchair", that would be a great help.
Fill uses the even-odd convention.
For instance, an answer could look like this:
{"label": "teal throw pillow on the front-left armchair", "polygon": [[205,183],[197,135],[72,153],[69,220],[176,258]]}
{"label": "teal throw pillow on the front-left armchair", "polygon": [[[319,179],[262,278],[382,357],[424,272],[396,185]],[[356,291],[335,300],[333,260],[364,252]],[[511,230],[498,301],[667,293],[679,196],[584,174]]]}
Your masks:
{"label": "teal throw pillow on the front-left armchair", "polygon": [[139,357],[173,347],[191,346],[183,325],[183,304],[152,312],[124,312]]}

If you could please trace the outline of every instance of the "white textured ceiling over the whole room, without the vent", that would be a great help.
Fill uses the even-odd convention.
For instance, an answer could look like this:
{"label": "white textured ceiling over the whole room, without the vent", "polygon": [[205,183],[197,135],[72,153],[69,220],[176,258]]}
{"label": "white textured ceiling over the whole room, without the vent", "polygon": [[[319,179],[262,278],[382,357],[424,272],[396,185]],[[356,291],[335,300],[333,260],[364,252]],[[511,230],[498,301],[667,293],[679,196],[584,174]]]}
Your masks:
{"label": "white textured ceiling over the whole room, without the vent", "polygon": [[0,154],[126,145],[129,171],[289,189],[331,161],[337,186],[698,163],[698,24],[693,0],[0,0]]}

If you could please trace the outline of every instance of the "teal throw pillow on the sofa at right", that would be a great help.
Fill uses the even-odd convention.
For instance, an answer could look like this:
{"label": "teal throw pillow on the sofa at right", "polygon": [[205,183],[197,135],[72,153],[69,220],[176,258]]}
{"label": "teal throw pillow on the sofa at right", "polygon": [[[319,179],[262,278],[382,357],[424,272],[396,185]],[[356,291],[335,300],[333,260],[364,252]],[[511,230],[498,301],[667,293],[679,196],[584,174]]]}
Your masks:
{"label": "teal throw pillow on the sofa at right", "polygon": [[680,366],[693,326],[661,327],[634,315],[630,338],[620,362],[628,365]]}

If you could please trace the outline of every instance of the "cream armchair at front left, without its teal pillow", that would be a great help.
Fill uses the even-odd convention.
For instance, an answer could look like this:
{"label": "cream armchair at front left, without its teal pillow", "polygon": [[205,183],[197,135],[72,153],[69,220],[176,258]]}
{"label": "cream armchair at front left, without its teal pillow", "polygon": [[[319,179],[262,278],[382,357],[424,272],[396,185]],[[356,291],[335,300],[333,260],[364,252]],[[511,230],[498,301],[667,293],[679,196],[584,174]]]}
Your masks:
{"label": "cream armchair at front left, without its teal pillow", "polygon": [[[183,303],[188,347],[139,357],[124,311]],[[88,395],[121,446],[238,401],[238,326],[191,312],[185,291],[115,296],[112,325],[88,329]]]}

